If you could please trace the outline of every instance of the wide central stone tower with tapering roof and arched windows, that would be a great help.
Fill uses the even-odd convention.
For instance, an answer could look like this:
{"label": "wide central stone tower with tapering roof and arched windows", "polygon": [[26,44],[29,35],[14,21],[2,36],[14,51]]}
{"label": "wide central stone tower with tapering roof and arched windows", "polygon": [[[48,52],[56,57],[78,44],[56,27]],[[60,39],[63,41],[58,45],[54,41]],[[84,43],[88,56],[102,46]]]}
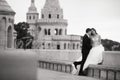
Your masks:
{"label": "wide central stone tower with tapering roof and arched windows", "polygon": [[39,38],[41,36],[63,36],[67,34],[67,20],[63,19],[63,10],[58,0],[46,0],[38,21]]}

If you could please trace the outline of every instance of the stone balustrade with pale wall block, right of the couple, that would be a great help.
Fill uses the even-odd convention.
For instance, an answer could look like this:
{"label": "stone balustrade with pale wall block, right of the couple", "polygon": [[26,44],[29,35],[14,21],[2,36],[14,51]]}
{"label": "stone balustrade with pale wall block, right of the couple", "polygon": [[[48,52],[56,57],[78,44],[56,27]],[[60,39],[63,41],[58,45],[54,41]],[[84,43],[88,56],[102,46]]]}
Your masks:
{"label": "stone balustrade with pale wall block, right of the couple", "polygon": [[103,52],[102,65],[89,65],[88,76],[102,80],[120,80],[120,52]]}

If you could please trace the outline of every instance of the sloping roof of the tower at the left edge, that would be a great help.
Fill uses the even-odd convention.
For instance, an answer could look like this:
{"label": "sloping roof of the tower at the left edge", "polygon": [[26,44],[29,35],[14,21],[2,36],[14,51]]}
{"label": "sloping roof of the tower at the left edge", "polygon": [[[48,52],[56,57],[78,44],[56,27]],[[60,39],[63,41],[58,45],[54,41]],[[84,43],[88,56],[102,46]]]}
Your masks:
{"label": "sloping roof of the tower at the left edge", "polygon": [[0,12],[14,13],[13,9],[9,6],[6,0],[0,0]]}

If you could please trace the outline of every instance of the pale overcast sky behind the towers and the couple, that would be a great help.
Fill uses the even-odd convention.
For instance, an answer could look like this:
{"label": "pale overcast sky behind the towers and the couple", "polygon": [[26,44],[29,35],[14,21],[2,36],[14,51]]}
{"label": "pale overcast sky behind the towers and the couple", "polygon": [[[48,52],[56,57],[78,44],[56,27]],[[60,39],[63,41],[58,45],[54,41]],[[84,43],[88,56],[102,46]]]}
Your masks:
{"label": "pale overcast sky behind the towers and the couple", "polygon": [[[26,21],[31,0],[7,0],[16,12],[15,23]],[[68,20],[68,34],[84,35],[93,27],[103,39],[120,42],[120,0],[59,0]],[[35,0],[41,12],[45,0]],[[40,14],[41,15],[41,14]]]}

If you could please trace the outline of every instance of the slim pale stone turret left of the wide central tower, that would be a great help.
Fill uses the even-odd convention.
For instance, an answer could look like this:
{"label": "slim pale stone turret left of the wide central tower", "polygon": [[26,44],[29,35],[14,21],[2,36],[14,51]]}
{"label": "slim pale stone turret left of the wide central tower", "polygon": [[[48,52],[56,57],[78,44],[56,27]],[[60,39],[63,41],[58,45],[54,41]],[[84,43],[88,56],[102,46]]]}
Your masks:
{"label": "slim pale stone turret left of the wide central tower", "polygon": [[30,25],[30,33],[35,36],[36,23],[39,19],[39,14],[37,8],[35,7],[35,0],[31,0],[31,6],[28,9],[26,14],[26,21]]}

